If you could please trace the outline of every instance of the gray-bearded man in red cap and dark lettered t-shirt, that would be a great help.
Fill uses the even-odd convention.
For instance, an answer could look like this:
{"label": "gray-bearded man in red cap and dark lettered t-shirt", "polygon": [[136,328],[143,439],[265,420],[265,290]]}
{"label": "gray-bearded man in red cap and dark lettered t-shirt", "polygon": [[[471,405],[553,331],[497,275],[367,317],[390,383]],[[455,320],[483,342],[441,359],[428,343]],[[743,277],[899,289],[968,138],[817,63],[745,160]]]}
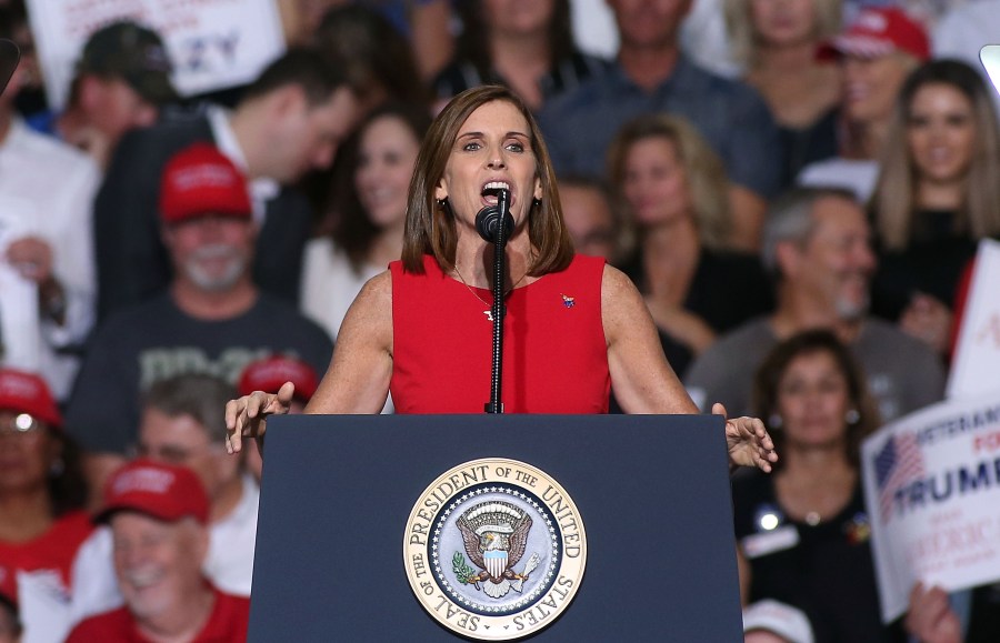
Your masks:
{"label": "gray-bearded man in red cap and dark lettered t-shirt", "polygon": [[324,372],[332,354],[320,326],[253,283],[258,229],[246,178],[228,157],[208,143],[178,152],[163,170],[159,210],[170,287],[99,326],[67,411],[91,490],[134,446],[139,400],[153,383],[202,373],[236,384],[248,363],[271,354]]}

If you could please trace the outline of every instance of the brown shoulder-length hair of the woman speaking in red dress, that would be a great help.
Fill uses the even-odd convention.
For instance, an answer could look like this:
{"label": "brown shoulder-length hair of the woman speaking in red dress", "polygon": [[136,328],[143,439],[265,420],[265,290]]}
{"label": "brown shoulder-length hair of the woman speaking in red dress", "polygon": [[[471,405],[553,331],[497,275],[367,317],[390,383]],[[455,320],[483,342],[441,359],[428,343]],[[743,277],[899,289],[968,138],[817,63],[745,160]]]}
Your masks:
{"label": "brown shoulder-length hair of the woman speaking in red dress", "polygon": [[532,203],[528,213],[528,239],[533,252],[529,260],[528,274],[540,277],[558,272],[569,267],[572,261],[573,242],[562,221],[556,171],[552,169],[541,130],[517,94],[506,87],[488,84],[468,89],[454,97],[431,123],[423,139],[410,181],[402,251],[402,264],[407,272],[422,273],[424,254],[432,255],[446,272],[454,268],[458,243],[454,215],[447,201],[438,201],[434,198],[434,188],[444,175],[444,168],[462,124],[478,108],[496,101],[509,102],[528,122],[536,173],[541,182],[542,198]]}

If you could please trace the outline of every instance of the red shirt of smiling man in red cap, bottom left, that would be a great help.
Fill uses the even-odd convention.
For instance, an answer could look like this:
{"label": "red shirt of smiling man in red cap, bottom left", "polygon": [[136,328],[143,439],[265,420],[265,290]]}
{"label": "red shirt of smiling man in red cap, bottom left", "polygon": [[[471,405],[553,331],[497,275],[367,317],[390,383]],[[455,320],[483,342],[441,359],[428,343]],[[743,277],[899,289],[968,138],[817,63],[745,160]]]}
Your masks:
{"label": "red shirt of smiling man in red cap, bottom left", "polygon": [[[212,589],[216,604],[208,623],[191,643],[242,643],[247,640],[250,620],[250,599],[224,594]],[[86,619],[70,632],[66,643],[93,643],[114,641],[121,643],[149,643],[137,626],[128,607],[119,607]]]}

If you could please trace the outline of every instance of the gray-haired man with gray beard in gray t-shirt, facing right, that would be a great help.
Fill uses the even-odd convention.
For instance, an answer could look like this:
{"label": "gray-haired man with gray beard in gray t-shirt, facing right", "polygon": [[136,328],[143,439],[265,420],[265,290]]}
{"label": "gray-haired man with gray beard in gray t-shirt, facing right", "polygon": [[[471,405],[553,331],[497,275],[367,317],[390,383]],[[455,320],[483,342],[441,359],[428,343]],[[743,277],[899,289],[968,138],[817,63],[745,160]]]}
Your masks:
{"label": "gray-haired man with gray beard in gray t-shirt, facing right", "polygon": [[882,420],[933,402],[944,393],[944,369],[933,352],[894,325],[868,314],[876,257],[871,230],[853,193],[798,188],[771,207],[762,259],[777,287],[777,309],[722,335],[691,365],[684,385],[699,406],[721,402],[749,414],[753,375],[781,340],[828,329],[861,366]]}

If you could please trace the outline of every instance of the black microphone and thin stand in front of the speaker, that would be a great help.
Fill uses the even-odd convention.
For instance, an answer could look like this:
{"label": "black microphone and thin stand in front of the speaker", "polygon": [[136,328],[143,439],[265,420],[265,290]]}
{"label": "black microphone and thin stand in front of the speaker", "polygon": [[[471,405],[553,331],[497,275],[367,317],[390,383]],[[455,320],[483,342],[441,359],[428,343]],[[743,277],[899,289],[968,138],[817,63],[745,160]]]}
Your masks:
{"label": "black microphone and thin stand in front of the speaker", "polygon": [[479,235],[493,243],[493,305],[490,307],[490,317],[493,321],[493,358],[490,401],[484,406],[487,413],[503,413],[503,403],[500,401],[500,383],[503,375],[503,315],[507,312],[503,302],[503,265],[507,259],[507,238],[513,230],[510,192],[496,190],[496,193],[497,205],[483,208],[476,215],[476,230]]}

